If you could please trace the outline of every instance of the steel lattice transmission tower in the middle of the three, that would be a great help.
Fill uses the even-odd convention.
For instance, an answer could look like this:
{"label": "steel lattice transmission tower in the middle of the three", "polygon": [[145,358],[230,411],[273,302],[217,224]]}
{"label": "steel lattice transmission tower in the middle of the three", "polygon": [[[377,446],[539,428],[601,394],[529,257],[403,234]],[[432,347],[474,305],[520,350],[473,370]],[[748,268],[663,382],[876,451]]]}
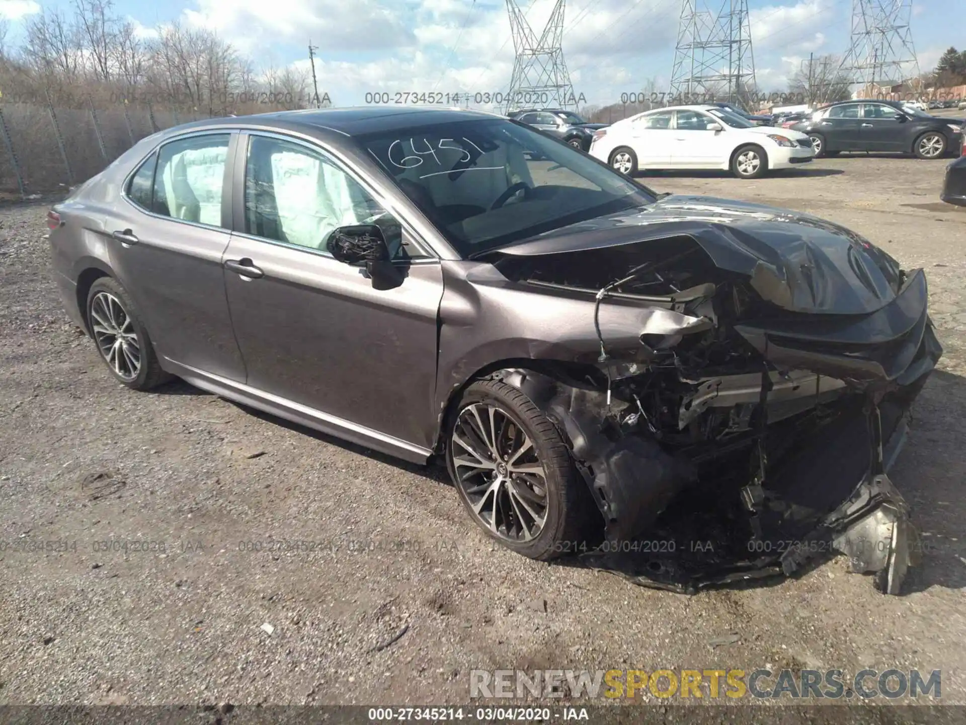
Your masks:
{"label": "steel lattice transmission tower in the middle of the three", "polygon": [[[749,108],[753,105],[754,57],[748,0],[683,0],[670,73],[674,102],[709,97]],[[687,94],[687,96],[685,96]]]}

